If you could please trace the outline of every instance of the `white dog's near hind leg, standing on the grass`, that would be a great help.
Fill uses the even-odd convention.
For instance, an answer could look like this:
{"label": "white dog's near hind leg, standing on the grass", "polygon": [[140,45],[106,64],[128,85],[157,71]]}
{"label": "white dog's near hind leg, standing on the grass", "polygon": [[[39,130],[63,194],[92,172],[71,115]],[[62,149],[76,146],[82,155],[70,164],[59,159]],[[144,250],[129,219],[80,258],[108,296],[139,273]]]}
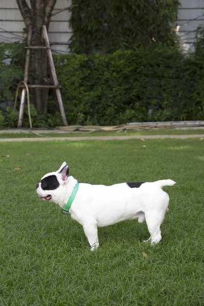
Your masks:
{"label": "white dog's near hind leg, standing on the grass", "polygon": [[162,224],[164,215],[165,211],[150,211],[145,213],[148,231],[151,235],[148,240],[151,241],[151,244],[159,243],[162,239],[160,225]]}

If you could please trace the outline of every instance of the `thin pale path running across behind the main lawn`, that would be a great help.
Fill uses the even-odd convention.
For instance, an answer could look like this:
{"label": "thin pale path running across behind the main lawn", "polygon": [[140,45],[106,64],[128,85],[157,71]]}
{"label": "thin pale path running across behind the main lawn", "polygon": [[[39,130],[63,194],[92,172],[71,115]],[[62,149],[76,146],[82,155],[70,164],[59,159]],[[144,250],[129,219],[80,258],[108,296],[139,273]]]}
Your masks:
{"label": "thin pale path running across behind the main lawn", "polygon": [[52,140],[126,140],[126,139],[186,139],[186,138],[203,138],[203,134],[195,135],[143,135],[143,136],[90,136],[90,137],[39,137],[39,138],[3,138],[0,142],[12,141],[52,141]]}

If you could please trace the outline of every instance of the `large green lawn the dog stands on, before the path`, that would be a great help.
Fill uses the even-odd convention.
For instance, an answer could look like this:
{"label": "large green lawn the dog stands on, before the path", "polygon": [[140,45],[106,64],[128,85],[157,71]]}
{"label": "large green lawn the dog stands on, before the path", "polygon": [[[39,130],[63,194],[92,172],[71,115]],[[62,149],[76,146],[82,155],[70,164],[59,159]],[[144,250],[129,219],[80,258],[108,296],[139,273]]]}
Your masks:
{"label": "large green lawn the dog stands on, before the path", "polygon": [[[204,304],[204,142],[161,139],[146,140],[146,148],[143,144],[0,144],[1,306]],[[41,177],[63,161],[79,182],[177,182],[164,188],[170,203],[162,241],[155,247],[144,244],[149,238],[146,224],[126,221],[99,228],[99,249],[92,253],[82,226],[37,197]],[[14,170],[18,165],[21,170]]]}

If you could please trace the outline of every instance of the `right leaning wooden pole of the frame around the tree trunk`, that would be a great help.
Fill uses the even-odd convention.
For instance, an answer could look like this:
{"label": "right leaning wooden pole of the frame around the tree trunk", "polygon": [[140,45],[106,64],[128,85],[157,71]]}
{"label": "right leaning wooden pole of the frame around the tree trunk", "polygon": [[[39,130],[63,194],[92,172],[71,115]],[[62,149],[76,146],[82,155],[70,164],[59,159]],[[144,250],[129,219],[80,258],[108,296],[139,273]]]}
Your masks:
{"label": "right leaning wooden pole of the frame around the tree trunk", "polygon": [[[56,74],[56,71],[55,71],[55,65],[54,65],[54,61],[53,61],[52,51],[50,50],[49,39],[48,39],[47,30],[46,30],[45,25],[42,26],[42,33],[43,33],[43,37],[44,37],[44,40],[45,40],[45,45],[47,47],[47,56],[48,56],[48,60],[49,60],[50,70],[51,70],[52,76],[53,76],[54,85],[58,86],[57,74]],[[64,106],[63,106],[63,102],[62,102],[62,96],[61,96],[59,88],[56,88],[56,95],[57,95],[57,99],[58,99],[60,113],[61,113],[61,116],[62,116],[62,122],[65,126],[67,126],[68,125],[67,124],[67,119],[66,119],[66,116],[65,116]]]}

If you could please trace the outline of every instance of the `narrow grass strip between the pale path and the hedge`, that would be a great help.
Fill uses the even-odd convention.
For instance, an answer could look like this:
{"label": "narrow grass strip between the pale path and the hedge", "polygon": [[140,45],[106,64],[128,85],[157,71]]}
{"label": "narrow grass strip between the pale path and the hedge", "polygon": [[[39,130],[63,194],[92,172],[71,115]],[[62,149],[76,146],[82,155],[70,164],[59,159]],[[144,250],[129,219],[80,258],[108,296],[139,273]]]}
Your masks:
{"label": "narrow grass strip between the pale path and the hedge", "polygon": [[[40,134],[40,131],[37,131],[37,133]],[[143,135],[192,135],[192,134],[204,134],[203,130],[142,130],[142,131],[127,131],[126,133],[124,131],[122,132],[92,132],[92,133],[63,133],[63,134],[56,134],[56,133],[50,133],[50,134],[41,134],[42,137],[91,137],[91,136],[143,136]],[[36,134],[0,134],[1,138],[36,138],[40,137]]]}

